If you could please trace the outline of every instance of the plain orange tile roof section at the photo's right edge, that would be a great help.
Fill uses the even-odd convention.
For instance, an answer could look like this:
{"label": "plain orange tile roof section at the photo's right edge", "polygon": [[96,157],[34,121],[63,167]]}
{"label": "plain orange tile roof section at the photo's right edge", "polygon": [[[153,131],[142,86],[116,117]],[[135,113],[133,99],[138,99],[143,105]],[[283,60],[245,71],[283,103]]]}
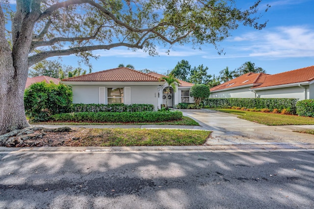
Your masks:
{"label": "plain orange tile roof section at the photo's right edge", "polygon": [[293,84],[314,80],[314,66],[268,75],[262,85],[254,88]]}

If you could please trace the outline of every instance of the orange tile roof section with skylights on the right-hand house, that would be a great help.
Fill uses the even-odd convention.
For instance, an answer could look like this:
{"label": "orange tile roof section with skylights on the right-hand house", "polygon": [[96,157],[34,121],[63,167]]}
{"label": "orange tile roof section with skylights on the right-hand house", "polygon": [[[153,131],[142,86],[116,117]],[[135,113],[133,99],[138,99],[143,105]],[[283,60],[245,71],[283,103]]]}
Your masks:
{"label": "orange tile roof section with skylights on the right-hand house", "polygon": [[268,76],[268,74],[265,73],[253,73],[249,72],[244,75],[241,75],[239,77],[236,77],[230,81],[227,81],[225,83],[222,83],[218,86],[212,87],[210,89],[210,92],[212,91],[218,91],[218,90],[227,90],[229,88],[246,86],[246,85],[260,85],[264,82],[265,78]]}

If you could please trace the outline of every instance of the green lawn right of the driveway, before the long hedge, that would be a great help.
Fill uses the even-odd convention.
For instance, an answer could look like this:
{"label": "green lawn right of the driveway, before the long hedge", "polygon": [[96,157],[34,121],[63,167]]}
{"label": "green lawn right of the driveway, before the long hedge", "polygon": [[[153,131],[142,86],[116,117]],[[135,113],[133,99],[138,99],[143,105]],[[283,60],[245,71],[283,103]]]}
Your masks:
{"label": "green lawn right of the driveway, before the long hedge", "polygon": [[235,114],[238,115],[238,118],[261,123],[264,125],[314,125],[313,117],[250,112],[234,109],[214,109],[214,110]]}

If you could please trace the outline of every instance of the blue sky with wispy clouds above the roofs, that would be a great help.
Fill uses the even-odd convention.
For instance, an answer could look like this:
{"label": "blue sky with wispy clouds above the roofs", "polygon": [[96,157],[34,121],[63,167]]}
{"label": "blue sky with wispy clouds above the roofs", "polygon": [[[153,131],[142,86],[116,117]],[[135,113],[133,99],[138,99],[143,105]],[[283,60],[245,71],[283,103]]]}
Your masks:
{"label": "blue sky with wispy clouds above the roofs", "polygon": [[[235,0],[237,7],[246,9],[255,0]],[[240,26],[231,32],[231,37],[219,43],[224,49],[222,55],[210,44],[202,50],[193,49],[190,44],[174,45],[169,54],[168,48],[157,46],[158,56],[152,57],[141,50],[133,52],[125,47],[110,50],[98,50],[100,58],[91,59],[93,72],[116,68],[119,64],[131,64],[135,70],[149,69],[157,73],[171,71],[181,60],[189,64],[208,67],[208,73],[219,75],[226,67],[239,68],[247,61],[266,73],[276,74],[314,65],[314,0],[262,0],[261,11],[269,4],[271,7],[263,13],[262,21],[268,20],[266,27],[256,30]],[[62,57],[62,63],[77,67],[75,56]],[[87,69],[87,68],[86,68]]]}

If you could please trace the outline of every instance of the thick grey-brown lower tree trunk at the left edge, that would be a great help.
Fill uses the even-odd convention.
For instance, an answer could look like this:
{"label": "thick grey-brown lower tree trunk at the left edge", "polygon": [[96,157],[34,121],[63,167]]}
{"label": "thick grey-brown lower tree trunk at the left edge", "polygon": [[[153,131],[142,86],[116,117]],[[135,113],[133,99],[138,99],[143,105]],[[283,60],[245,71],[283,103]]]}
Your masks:
{"label": "thick grey-brown lower tree trunk at the left edge", "polygon": [[0,135],[29,126],[24,109],[27,62],[13,63],[10,48],[0,48]]}

